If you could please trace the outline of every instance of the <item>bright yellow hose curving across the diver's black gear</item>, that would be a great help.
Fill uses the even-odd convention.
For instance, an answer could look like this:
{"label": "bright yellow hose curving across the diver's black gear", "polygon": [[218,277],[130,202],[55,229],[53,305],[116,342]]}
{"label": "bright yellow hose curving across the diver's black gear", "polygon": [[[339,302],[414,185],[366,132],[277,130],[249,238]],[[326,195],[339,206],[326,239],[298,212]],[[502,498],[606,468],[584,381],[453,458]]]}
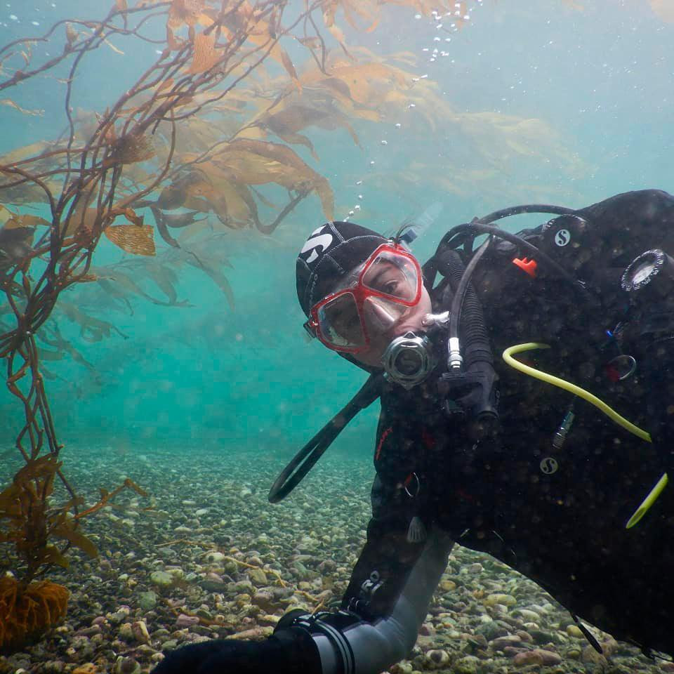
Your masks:
{"label": "bright yellow hose curving across the diver's black gear", "polygon": [[[618,414],[614,409],[609,407],[603,400],[597,398],[596,395],[593,395],[592,393],[586,391],[584,388],[581,388],[580,386],[576,386],[576,384],[572,384],[569,381],[565,381],[564,379],[555,377],[554,375],[548,374],[547,372],[543,372],[542,370],[537,370],[536,368],[531,367],[530,365],[525,365],[519,360],[513,358],[513,355],[515,355],[516,353],[521,353],[523,351],[531,351],[534,349],[549,349],[549,348],[550,345],[542,344],[539,342],[527,342],[524,344],[515,344],[514,346],[510,346],[503,352],[503,360],[505,360],[505,362],[508,363],[510,367],[514,367],[516,370],[519,370],[520,372],[523,372],[524,374],[527,374],[530,377],[534,377],[536,379],[540,379],[541,381],[545,381],[546,383],[551,384],[553,386],[563,388],[564,390],[569,391],[569,393],[573,393],[574,395],[583,398],[583,400],[587,400],[587,402],[593,404],[595,407],[597,407],[597,409],[600,409],[614,423],[617,423],[619,426],[622,426],[622,428],[624,428],[625,430],[628,430],[633,435],[636,435],[637,437],[641,438],[641,440],[645,440],[645,442],[652,442],[651,436],[648,432],[646,432],[642,428],[639,428],[631,421],[628,421],[624,416]],[[661,491],[667,486],[667,482],[668,482],[667,473],[663,473],[658,482],[656,483],[655,487],[651,489],[648,496],[642,501],[637,510],[635,510],[634,515],[632,515],[632,517],[630,517],[630,519],[628,520],[626,524],[626,529],[631,529],[648,512],[649,508],[653,505],[653,503],[655,503],[656,498],[660,496]]]}

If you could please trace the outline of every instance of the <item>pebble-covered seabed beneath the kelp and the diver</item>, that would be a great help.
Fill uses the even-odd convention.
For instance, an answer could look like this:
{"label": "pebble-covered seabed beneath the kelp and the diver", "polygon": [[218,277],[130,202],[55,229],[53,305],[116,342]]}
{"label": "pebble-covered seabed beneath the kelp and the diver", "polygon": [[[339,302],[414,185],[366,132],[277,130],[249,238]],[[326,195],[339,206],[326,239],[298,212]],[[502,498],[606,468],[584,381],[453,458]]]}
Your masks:
{"label": "pebble-covered seabed beneath the kelp and the diver", "polygon": [[[48,576],[70,590],[65,623],[0,656],[0,674],[137,674],[190,642],[263,639],[290,609],[338,600],[364,543],[366,458],[326,456],[277,505],[267,491],[285,456],[104,448],[63,458],[92,502],[99,487],[127,476],[150,497],[124,491],[86,520],[99,557],[74,551],[70,569]],[[416,646],[390,674],[674,671],[593,629],[598,654],[535,583],[458,546],[429,610]]]}

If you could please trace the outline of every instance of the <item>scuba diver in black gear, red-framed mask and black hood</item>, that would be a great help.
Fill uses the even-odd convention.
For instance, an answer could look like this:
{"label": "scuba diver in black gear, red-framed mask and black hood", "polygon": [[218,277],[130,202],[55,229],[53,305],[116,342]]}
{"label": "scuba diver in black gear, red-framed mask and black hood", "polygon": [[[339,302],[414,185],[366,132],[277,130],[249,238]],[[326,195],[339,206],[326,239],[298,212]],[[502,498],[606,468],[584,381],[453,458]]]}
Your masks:
{"label": "scuba diver in black gear, red-framed mask and black hood", "polygon": [[[531,212],[555,217],[493,224]],[[504,209],[451,229],[423,266],[409,234],[327,223],[297,260],[305,328],[369,378],[270,501],[381,398],[341,604],[291,611],[262,642],[181,647],[157,674],[380,673],[414,647],[454,544],[534,580],[600,652],[581,619],[674,652],[674,197]]]}

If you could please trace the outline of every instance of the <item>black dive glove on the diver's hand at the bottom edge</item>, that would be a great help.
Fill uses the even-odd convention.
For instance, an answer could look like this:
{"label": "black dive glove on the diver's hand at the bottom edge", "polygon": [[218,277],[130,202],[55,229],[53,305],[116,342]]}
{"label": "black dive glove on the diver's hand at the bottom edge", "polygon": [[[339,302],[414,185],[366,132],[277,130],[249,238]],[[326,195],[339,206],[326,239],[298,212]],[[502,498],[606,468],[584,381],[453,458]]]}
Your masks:
{"label": "black dive glove on the diver's hand at the bottom edge", "polygon": [[152,674],[321,674],[316,642],[302,628],[265,641],[216,639],[177,648]]}

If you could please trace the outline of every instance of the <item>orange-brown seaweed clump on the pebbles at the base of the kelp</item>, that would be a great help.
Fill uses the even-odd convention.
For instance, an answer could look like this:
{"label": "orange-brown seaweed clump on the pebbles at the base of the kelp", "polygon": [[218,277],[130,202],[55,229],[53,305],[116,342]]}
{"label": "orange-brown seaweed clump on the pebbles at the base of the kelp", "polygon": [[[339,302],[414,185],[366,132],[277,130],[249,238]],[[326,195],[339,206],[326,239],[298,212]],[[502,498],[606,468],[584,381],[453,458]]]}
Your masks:
{"label": "orange-brown seaweed clump on the pebbles at the base of the kelp", "polygon": [[50,581],[25,588],[9,576],[0,579],[0,653],[11,653],[65,618],[68,590]]}

